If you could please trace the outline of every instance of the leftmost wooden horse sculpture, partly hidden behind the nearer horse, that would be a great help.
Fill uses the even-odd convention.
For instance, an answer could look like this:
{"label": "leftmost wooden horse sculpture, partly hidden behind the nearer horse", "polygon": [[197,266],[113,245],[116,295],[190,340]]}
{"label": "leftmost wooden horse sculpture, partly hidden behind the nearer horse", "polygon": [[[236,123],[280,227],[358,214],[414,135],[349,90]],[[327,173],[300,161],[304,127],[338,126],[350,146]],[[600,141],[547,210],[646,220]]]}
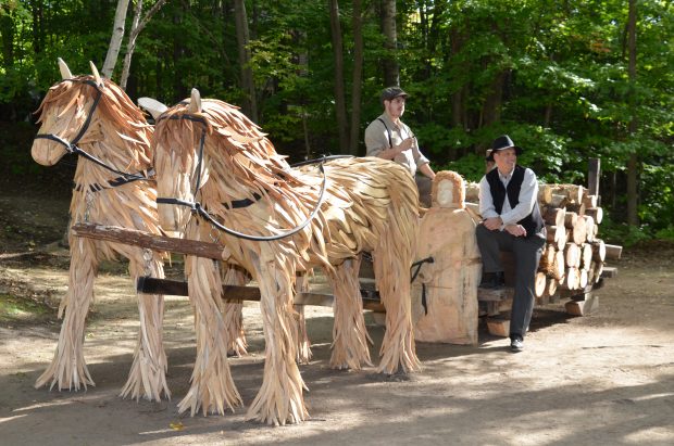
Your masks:
{"label": "leftmost wooden horse sculpture, partly hidden behind the nearer horse", "polygon": [[[157,192],[147,179],[153,127],[118,86],[101,79],[93,64],[93,75],[77,77],[62,60],[59,64],[63,80],[51,87],[38,110],[41,127],[33,143],[33,158],[51,166],[68,152],[80,155],[70,209],[73,222],[88,220],[159,233]],[[50,384],[77,391],[95,385],[83,342],[101,259],[127,257],[134,283],[139,276],[164,275],[160,255],[139,247],[72,235],[70,246],[68,290],[59,308],[59,317],[64,316],[59,344],[36,387]],[[170,396],[162,345],[163,296],[138,295],[138,344],[122,396],[159,400],[162,392]]]}

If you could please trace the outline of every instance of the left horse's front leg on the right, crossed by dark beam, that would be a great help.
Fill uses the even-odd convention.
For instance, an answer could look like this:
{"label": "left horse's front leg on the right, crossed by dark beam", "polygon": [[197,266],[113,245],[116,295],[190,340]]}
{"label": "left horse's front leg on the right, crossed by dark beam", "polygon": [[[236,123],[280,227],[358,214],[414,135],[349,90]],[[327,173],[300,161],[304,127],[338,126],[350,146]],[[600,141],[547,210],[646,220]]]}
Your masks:
{"label": "left horse's front leg on the right, crossed by dark beam", "polygon": [[[124,255],[129,259],[128,270],[134,283],[140,276],[163,279],[164,265],[157,253],[133,249]],[[162,339],[164,296],[138,294],[138,314],[140,329],[134,361],[120,396],[125,398],[130,395],[132,398],[139,399],[142,393],[146,399],[161,400],[161,394],[164,392],[166,397],[171,398],[166,384],[166,354]]]}

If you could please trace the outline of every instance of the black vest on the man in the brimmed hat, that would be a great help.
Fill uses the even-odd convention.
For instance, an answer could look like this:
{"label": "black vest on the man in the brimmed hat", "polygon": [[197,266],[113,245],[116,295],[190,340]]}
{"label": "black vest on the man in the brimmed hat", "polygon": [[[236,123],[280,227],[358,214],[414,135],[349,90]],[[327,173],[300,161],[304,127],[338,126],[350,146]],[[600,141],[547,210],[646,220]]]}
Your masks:
{"label": "black vest on the man in the brimmed hat", "polygon": [[[515,165],[515,170],[512,174],[512,178],[508,183],[508,188],[503,186],[499,178],[499,169],[495,168],[487,174],[487,182],[489,183],[489,190],[491,191],[491,201],[496,212],[500,215],[503,209],[503,203],[506,202],[506,195],[508,194],[508,201],[510,207],[514,208],[520,203],[520,190],[522,189],[522,182],[524,181],[524,167]],[[540,216],[540,208],[538,207],[538,200],[534,200],[534,208],[532,213],[517,221],[517,225],[522,225],[526,229],[526,237],[532,237],[542,230],[545,224]]]}

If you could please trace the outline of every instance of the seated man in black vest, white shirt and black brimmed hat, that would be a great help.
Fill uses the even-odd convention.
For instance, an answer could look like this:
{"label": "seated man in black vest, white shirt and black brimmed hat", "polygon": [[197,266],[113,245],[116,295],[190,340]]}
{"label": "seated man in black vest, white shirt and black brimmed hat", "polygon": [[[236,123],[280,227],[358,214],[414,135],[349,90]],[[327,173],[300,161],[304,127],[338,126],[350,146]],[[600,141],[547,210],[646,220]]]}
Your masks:
{"label": "seated man in black vest, white shirt and black brimmed hat", "polygon": [[483,259],[482,288],[504,284],[501,251],[515,257],[515,294],[510,317],[510,348],[524,348],[524,333],[534,310],[534,282],[546,243],[546,229],[538,208],[538,181],[529,168],[519,166],[516,146],[508,135],[494,140],[487,161],[496,163],[479,181],[477,246]]}

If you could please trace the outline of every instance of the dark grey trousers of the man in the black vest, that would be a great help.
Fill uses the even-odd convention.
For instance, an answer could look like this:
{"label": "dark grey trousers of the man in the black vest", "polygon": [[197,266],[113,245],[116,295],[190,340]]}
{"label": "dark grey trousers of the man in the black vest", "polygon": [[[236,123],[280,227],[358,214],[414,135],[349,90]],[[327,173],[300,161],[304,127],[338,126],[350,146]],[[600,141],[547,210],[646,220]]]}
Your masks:
{"label": "dark grey trousers of the man in the black vest", "polygon": [[490,231],[484,225],[477,225],[476,235],[485,272],[503,271],[501,251],[514,254],[515,295],[510,316],[510,337],[524,339],[534,311],[534,283],[542,247],[546,244],[545,233],[527,238],[513,237],[507,231]]}

